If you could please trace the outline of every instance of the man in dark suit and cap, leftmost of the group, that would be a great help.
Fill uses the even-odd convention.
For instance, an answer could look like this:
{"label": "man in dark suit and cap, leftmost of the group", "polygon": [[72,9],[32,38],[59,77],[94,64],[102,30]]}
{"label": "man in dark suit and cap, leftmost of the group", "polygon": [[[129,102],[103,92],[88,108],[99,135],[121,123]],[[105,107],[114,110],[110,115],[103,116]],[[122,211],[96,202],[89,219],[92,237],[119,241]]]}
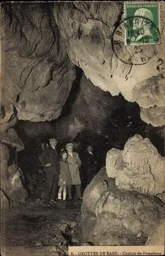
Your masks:
{"label": "man in dark suit and cap, leftmost of the group", "polygon": [[55,197],[60,175],[59,156],[56,151],[58,141],[56,139],[49,139],[49,143],[50,148],[39,156],[39,160],[44,166],[46,173],[45,201],[56,202]]}

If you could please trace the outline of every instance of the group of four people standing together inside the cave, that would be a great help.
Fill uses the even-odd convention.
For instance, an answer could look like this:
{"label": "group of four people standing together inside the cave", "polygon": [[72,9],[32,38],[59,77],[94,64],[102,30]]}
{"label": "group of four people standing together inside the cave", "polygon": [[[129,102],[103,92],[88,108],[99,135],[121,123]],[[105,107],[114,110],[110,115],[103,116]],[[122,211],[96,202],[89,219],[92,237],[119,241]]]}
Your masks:
{"label": "group of four people standing together inside the cave", "polygon": [[[68,194],[68,199],[73,200],[72,186],[75,186],[78,200],[82,200],[81,195],[81,179],[79,168],[81,160],[78,153],[73,151],[74,145],[72,143],[66,144],[58,154],[56,146],[57,139],[49,139],[49,145],[43,148],[43,153],[39,156],[39,160],[43,165],[46,173],[46,189],[45,189],[45,202],[50,203],[57,201],[65,201]],[[92,166],[91,159],[96,164],[92,153],[92,147],[88,147],[88,157],[86,163]],[[94,167],[93,167],[94,169]],[[93,172],[95,175],[95,172]],[[90,177],[91,178],[91,177]],[[91,179],[90,179],[91,180]],[[90,182],[88,180],[88,183]],[[58,190],[58,186],[60,186]],[[58,190],[58,191],[57,191]],[[56,193],[58,192],[58,199],[56,200]]]}

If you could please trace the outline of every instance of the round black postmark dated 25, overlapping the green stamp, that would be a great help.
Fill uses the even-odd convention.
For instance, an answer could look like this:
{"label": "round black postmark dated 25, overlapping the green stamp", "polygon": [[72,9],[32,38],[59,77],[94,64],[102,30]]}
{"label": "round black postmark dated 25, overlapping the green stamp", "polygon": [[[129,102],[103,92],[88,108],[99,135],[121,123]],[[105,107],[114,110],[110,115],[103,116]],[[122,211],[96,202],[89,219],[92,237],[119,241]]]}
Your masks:
{"label": "round black postmark dated 25, overlapping the green stamp", "polygon": [[115,27],[112,49],[123,63],[144,65],[156,54],[154,42],[159,38],[160,32],[152,20],[139,15],[130,16]]}

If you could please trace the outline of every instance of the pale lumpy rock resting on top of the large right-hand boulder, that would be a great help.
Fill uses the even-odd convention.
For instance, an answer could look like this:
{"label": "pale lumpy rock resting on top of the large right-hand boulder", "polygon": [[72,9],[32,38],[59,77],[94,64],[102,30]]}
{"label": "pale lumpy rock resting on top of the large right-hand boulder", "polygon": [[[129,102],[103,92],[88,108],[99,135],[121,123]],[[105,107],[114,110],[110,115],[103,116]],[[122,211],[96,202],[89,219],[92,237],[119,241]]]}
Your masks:
{"label": "pale lumpy rock resting on top of the large right-hand boulder", "polygon": [[129,138],[124,150],[107,152],[106,172],[116,178],[116,185],[124,189],[135,189],[156,195],[165,190],[165,160],[159,155],[148,138],[140,135]]}

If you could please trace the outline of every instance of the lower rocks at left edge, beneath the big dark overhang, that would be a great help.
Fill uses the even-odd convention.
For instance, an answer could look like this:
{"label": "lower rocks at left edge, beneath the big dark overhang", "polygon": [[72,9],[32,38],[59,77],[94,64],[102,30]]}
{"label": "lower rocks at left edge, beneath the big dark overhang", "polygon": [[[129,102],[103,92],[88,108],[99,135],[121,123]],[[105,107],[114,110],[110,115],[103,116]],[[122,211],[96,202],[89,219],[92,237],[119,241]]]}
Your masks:
{"label": "lower rocks at left edge, beneath the big dark overhang", "polygon": [[[15,164],[16,153],[23,148],[21,139],[12,127],[1,133],[1,189],[8,199],[18,202],[24,202],[28,197],[28,192],[22,184],[22,172]],[[10,164],[11,161],[13,164]]]}

